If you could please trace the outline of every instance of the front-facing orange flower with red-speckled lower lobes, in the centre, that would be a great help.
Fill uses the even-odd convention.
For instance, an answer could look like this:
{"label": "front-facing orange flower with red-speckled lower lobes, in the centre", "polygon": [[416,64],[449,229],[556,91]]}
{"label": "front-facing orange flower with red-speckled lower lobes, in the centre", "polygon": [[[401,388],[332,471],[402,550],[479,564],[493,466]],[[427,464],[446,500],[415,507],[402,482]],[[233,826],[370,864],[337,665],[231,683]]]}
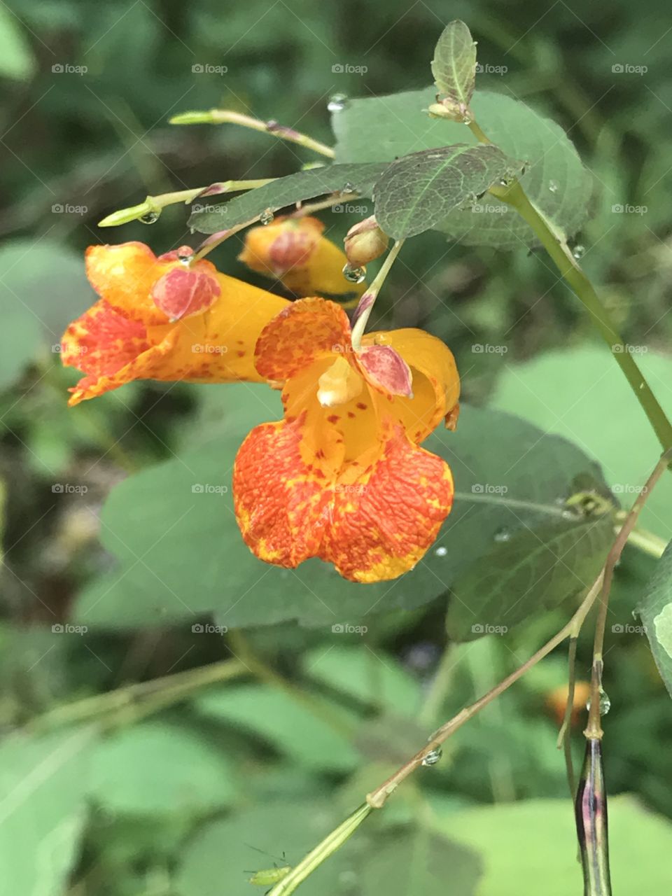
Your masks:
{"label": "front-facing orange flower with red-speckled lower lobes, in the centre", "polygon": [[455,418],[460,381],[420,330],[371,333],[354,351],[345,312],[306,298],[268,323],[256,367],[284,383],[284,420],[257,426],[234,468],[238,525],[256,556],[311,556],[356,582],[411,569],[452,505],[448,464],[418,448]]}

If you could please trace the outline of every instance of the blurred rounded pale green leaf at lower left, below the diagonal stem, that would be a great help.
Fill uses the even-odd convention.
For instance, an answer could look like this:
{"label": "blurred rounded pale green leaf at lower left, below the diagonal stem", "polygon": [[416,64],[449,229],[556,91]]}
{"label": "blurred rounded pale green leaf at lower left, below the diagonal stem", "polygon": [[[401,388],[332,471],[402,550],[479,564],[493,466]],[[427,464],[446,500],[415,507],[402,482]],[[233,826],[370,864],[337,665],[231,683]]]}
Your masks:
{"label": "blurred rounded pale green leaf at lower left, below the diagonal stem", "polygon": [[112,813],[204,814],[236,795],[227,757],[188,728],[126,728],[93,755],[91,796]]}

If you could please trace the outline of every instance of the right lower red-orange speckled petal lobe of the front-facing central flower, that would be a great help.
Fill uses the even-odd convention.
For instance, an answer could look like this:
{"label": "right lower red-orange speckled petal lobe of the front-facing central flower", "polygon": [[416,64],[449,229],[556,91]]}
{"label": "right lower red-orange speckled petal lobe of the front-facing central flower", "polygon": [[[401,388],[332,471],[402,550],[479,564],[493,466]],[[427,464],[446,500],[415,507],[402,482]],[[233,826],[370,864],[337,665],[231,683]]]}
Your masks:
{"label": "right lower red-orange speckled petal lobe of the front-facing central flower", "polygon": [[412,569],[452,506],[445,461],[396,426],[364,473],[340,475],[320,556],[346,579],[380,582]]}

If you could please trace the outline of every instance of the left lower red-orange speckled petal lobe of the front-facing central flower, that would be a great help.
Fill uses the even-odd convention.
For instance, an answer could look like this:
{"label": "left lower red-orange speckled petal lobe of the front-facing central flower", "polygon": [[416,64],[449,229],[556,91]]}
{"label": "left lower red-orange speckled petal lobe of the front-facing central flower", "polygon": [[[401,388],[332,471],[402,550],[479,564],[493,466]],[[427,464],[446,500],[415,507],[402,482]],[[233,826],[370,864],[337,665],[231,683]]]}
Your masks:
{"label": "left lower red-orange speckled petal lobe of the front-facing central flower", "polygon": [[297,566],[317,554],[333,480],[301,452],[302,421],[264,423],[238,450],[233,488],[238,526],[260,559]]}

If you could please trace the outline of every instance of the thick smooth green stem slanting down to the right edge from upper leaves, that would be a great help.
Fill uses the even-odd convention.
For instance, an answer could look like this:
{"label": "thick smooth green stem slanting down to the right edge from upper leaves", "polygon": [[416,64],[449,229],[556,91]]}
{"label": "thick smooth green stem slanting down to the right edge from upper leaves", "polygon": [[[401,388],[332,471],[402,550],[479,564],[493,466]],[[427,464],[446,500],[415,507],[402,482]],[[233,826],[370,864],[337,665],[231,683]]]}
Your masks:
{"label": "thick smooth green stem slanting down to the right edge from upper leaves", "polygon": [[[491,142],[475,121],[470,121],[469,127],[478,141]],[[561,277],[573,289],[583,306],[587,308],[593,323],[607,342],[616,358],[616,363],[630,383],[635,398],[649,418],[650,425],[658,436],[663,451],[667,451],[669,447],[672,447],[672,424],[670,424],[665,411],[660,407],[658,399],[651,392],[650,385],[629,351],[629,347],[619,335],[607,308],[602,304],[592,283],[583,273],[579,264],[576,263],[564,235],[559,233],[551,222],[535,208],[517,180],[505,186],[492,186],[489,192],[511,205],[520,214],[522,220],[530,225],[551,260],[556,264]]]}

